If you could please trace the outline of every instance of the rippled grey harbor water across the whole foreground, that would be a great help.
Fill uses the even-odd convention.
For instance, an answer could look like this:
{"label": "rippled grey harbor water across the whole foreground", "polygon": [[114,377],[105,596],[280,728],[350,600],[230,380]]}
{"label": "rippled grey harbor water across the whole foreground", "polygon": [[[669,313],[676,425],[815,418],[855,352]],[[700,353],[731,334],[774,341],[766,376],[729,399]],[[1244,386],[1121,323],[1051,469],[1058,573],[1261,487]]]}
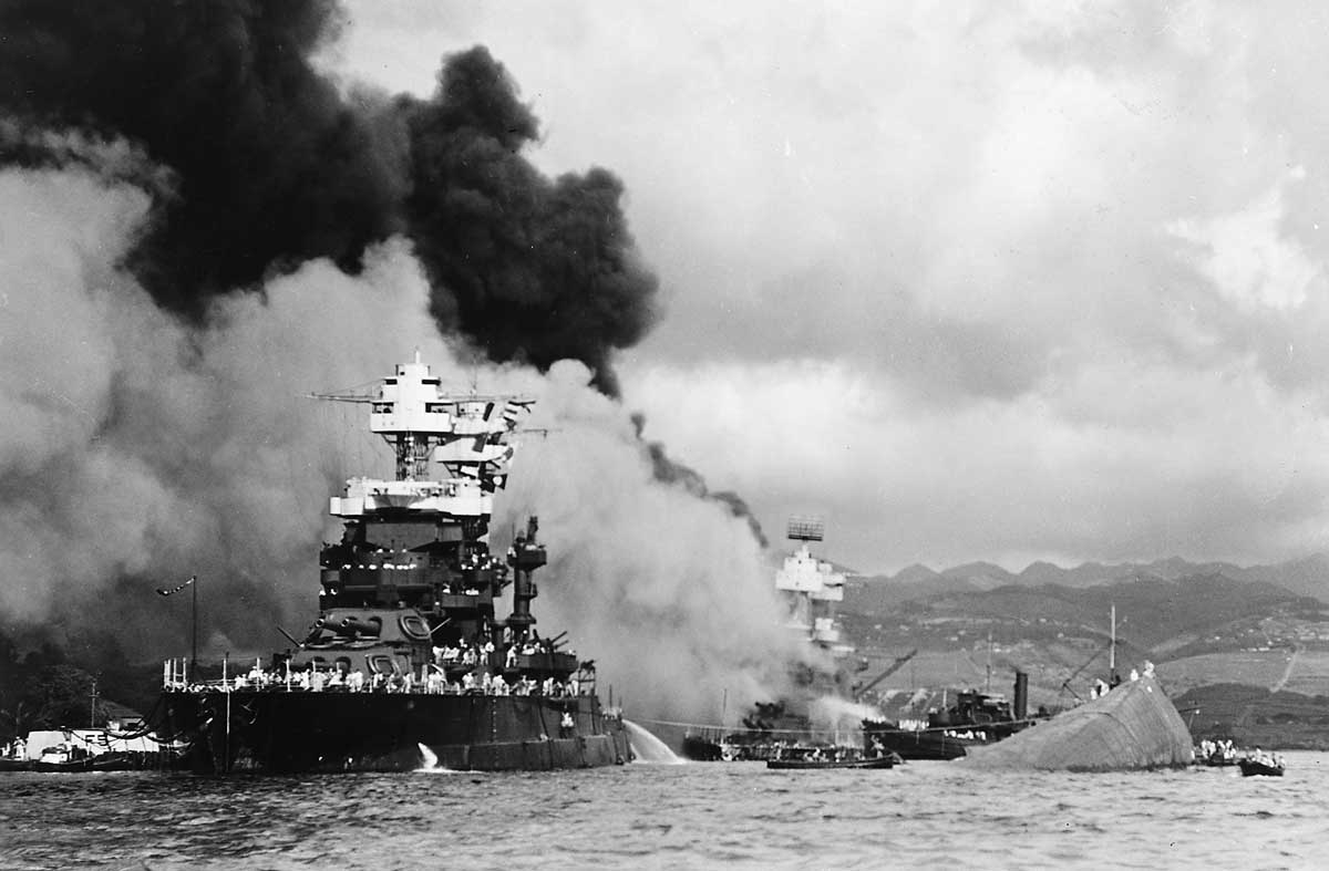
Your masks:
{"label": "rippled grey harbor water across the whole foreground", "polygon": [[1329,754],[1237,769],[0,774],[0,868],[1312,868]]}

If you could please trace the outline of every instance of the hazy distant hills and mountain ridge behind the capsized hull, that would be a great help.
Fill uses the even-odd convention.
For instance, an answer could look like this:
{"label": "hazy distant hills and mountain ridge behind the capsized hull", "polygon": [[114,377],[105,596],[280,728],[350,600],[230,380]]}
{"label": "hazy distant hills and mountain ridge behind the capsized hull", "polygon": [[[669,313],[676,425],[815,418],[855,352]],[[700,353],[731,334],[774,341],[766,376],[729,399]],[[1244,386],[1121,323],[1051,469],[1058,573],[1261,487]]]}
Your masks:
{"label": "hazy distant hills and mountain ridge behind the capsized hull", "polygon": [[[1084,697],[1090,682],[1107,674],[1114,605],[1123,673],[1150,660],[1168,692],[1225,682],[1264,684],[1257,694],[1267,696],[1285,686],[1321,692],[1329,673],[1326,603],[1329,556],[1316,554],[1251,567],[1176,556],[1074,568],[1037,562],[1021,572],[981,562],[944,571],[910,566],[894,576],[851,575],[839,611],[845,641],[874,669],[920,651],[881,692],[936,693],[989,676],[1001,686],[1022,669],[1030,674],[1030,697],[1059,706]],[[878,701],[894,698],[878,694]],[[1284,701],[1281,693],[1243,697],[1240,717],[1227,702],[1221,714],[1212,700],[1200,706],[1213,717],[1205,720],[1211,730],[1277,746],[1329,746],[1329,714],[1317,709],[1293,722],[1301,713]]]}

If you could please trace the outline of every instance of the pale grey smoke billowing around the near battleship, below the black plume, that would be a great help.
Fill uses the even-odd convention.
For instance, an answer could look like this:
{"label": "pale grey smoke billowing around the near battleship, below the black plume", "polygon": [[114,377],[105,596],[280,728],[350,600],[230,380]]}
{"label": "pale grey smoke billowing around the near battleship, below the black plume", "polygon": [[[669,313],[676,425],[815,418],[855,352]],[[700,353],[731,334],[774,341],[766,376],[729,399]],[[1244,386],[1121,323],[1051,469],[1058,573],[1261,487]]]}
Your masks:
{"label": "pale grey smoke billowing around the near battleship, below the black plume", "polygon": [[205,636],[280,647],[274,623],[314,616],[327,497],[391,473],[361,409],[306,394],[419,348],[445,384],[540,400],[552,432],[518,454],[494,539],[540,515],[538,628],[569,629],[602,692],[696,717],[724,690],[743,705],[779,686],[791,648],[747,524],[654,481],[627,410],[581,364],[459,364],[405,244],[356,277],[307,263],[189,327],[118,267],[149,220],[144,191],[90,169],[8,170],[0,202],[0,617],[77,627],[90,605],[132,656],[166,656],[181,625],[152,587],[198,575]]}

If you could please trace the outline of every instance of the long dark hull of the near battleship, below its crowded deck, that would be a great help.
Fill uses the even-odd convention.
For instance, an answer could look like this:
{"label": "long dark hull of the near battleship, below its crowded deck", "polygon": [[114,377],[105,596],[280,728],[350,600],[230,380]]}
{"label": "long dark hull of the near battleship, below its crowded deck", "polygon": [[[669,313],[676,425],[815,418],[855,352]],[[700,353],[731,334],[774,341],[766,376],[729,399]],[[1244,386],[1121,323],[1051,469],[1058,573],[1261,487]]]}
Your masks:
{"label": "long dark hull of the near battleship, below its crowded deck", "polygon": [[[198,773],[505,771],[598,767],[631,758],[627,732],[594,696],[171,692],[162,729]],[[561,726],[571,714],[571,726]]]}

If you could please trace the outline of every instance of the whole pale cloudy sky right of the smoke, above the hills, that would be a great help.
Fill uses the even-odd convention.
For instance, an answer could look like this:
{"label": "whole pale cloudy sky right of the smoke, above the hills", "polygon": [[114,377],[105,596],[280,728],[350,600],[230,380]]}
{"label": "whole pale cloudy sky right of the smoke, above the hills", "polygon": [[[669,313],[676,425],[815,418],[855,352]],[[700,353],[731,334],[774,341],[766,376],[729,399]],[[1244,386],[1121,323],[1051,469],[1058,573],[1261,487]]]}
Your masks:
{"label": "whole pale cloudy sky right of the smoke, above the hills", "polygon": [[626,187],[645,435],[865,572],[1325,550],[1313,3],[347,4],[427,97],[476,44],[550,175]]}

